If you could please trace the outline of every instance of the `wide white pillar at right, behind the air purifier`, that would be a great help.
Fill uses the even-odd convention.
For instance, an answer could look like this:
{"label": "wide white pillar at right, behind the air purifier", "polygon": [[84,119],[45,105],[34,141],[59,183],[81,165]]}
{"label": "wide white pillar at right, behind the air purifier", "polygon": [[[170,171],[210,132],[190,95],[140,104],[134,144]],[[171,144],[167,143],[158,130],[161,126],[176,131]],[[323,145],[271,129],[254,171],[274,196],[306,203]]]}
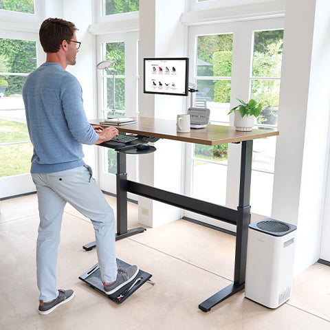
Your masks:
{"label": "wide white pillar at right, behind the air purifier", "polygon": [[295,273],[318,260],[329,131],[327,0],[287,0],[272,217],[298,226]]}

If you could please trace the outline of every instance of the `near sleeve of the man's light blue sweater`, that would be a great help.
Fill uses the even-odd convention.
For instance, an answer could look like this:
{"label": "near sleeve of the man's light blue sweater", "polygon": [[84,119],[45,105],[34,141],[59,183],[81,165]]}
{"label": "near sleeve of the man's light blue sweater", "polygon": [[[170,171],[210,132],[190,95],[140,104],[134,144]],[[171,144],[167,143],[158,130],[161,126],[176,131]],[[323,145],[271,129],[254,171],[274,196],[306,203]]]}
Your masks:
{"label": "near sleeve of the man's light blue sweater", "polygon": [[83,144],[95,144],[98,133],[87,120],[83,91],[77,78],[68,72],[61,80],[60,98],[69,131],[74,139]]}

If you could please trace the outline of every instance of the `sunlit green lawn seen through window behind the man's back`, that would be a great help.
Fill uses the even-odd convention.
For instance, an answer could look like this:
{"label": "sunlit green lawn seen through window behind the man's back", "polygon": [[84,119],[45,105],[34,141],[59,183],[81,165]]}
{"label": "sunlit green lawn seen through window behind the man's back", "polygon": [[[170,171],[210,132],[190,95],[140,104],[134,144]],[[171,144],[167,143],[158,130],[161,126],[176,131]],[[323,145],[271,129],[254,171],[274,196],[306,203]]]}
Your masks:
{"label": "sunlit green lawn seen through window behind the man's back", "polygon": [[[0,143],[29,140],[26,124],[0,120]],[[29,173],[32,151],[31,143],[0,146],[0,177]]]}

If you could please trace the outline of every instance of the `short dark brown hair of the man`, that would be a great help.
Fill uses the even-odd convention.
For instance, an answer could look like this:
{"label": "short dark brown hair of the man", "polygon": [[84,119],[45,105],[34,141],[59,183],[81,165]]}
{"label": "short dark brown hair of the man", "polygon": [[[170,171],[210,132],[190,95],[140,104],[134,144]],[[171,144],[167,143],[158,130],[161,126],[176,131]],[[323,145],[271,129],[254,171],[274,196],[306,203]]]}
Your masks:
{"label": "short dark brown hair of the man", "polygon": [[78,30],[74,23],[64,19],[46,19],[39,30],[40,43],[45,53],[56,53],[60,50],[61,43],[66,40],[68,43]]}

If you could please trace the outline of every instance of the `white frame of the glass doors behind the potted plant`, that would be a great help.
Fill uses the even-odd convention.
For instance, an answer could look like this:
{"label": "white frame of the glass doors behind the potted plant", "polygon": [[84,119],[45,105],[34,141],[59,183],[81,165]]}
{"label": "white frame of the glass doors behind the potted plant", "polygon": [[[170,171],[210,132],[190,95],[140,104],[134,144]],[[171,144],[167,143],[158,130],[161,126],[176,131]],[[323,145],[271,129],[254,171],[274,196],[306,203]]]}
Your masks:
{"label": "white frame of the glass doors behind the potted plant", "polygon": [[[284,19],[251,19],[248,21],[237,21],[230,23],[218,23],[208,25],[190,26],[188,32],[188,56],[190,58],[190,68],[196,67],[196,40],[199,35],[206,34],[228,34],[233,33],[232,45],[232,77],[231,77],[231,97],[230,109],[236,105],[236,97],[248,100],[250,97],[250,80],[252,78],[252,58],[253,58],[253,35],[255,31],[281,30],[284,28]],[[190,69],[190,79],[193,77],[193,70]],[[233,124],[233,116],[230,116],[230,125]],[[192,192],[192,166],[193,166],[193,144],[188,144],[186,148],[186,195]],[[239,191],[239,159],[240,145],[228,145],[228,171],[225,206],[235,208],[238,205]],[[221,166],[221,165],[219,165]],[[219,226],[219,221],[184,211],[185,217],[193,217],[199,221]],[[234,225],[221,223],[221,228],[235,231]]]}

